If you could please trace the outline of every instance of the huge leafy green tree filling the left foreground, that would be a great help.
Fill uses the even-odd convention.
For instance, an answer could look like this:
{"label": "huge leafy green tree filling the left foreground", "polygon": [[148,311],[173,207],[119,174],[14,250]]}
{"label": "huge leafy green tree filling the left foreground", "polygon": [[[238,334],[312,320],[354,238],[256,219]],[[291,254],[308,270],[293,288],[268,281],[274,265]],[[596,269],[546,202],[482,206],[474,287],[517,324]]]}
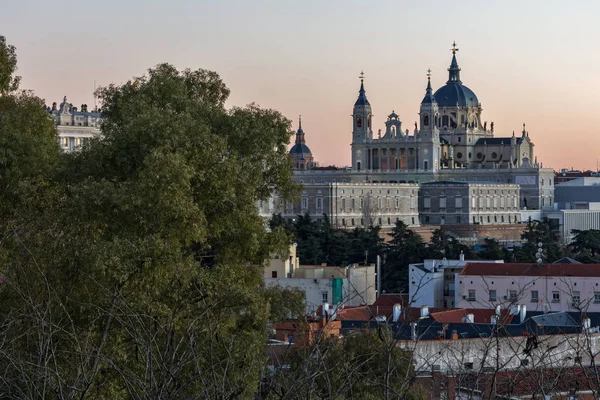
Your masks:
{"label": "huge leafy green tree filling the left foreground", "polygon": [[1,243],[2,393],[253,396],[275,298],[261,265],[281,234],[255,204],[297,189],[290,121],[227,110],[228,94],[214,72],[161,64],[99,90],[103,137],[60,168],[33,168],[44,151],[15,152],[19,176],[44,179],[15,192],[14,240]]}

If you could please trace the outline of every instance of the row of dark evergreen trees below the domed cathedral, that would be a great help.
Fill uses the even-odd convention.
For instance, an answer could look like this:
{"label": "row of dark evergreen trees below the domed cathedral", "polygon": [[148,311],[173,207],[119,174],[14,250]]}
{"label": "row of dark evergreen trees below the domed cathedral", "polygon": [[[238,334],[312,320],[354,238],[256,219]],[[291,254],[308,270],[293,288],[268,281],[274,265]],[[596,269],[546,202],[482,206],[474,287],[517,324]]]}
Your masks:
{"label": "row of dark evergreen trees below the domed cathedral", "polygon": [[551,220],[527,222],[521,246],[509,250],[498,240],[485,238],[474,249],[461,243],[446,231],[437,229],[431,241],[410,230],[402,221],[384,240],[379,226],[353,230],[333,227],[328,218],[317,221],[309,214],[299,215],[289,223],[279,214],[273,215],[270,227],[285,228],[298,244],[301,264],[349,265],[374,264],[381,257],[383,290],[402,292],[406,290],[408,266],[424,259],[447,258],[456,260],[463,253],[470,260],[504,260],[505,262],[536,262],[539,243],[542,243],[543,261],[554,262],[570,256],[581,262],[600,262],[600,231],[576,231],[570,246],[560,245],[558,226]]}

